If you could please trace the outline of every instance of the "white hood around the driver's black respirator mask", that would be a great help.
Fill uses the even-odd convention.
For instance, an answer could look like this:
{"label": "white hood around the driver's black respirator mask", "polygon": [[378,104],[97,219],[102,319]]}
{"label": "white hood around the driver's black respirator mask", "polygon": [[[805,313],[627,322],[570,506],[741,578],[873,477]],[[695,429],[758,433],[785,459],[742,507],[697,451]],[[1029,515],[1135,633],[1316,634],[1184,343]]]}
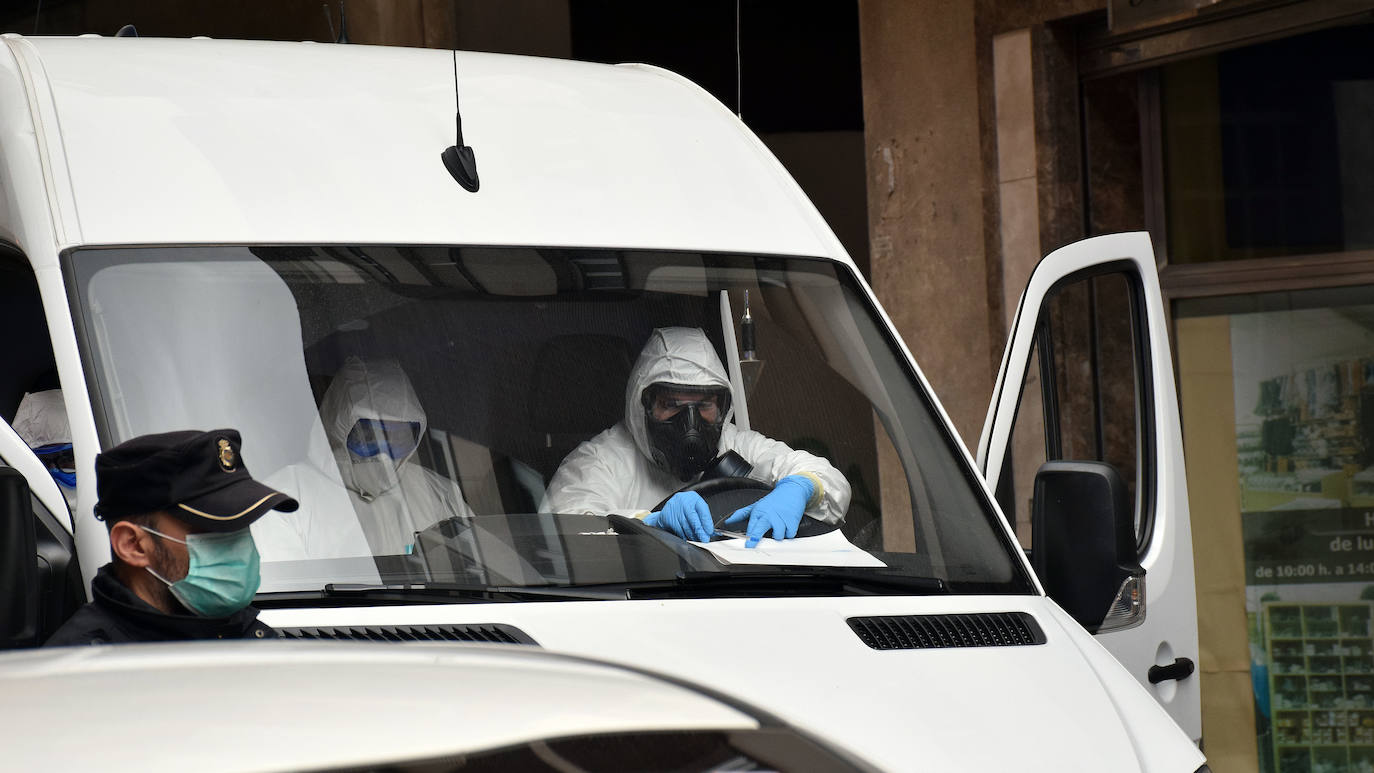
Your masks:
{"label": "white hood around the driver's black respirator mask", "polygon": [[[730,390],[725,367],[721,365],[716,347],[701,328],[655,330],[640,350],[639,360],[635,361],[625,383],[625,424],[644,459],[653,459],[654,453],[649,445],[649,428],[644,426],[644,404],[640,402],[640,395],[650,384],[657,383]],[[731,409],[725,413],[725,422],[734,413],[734,393],[730,402]]]}

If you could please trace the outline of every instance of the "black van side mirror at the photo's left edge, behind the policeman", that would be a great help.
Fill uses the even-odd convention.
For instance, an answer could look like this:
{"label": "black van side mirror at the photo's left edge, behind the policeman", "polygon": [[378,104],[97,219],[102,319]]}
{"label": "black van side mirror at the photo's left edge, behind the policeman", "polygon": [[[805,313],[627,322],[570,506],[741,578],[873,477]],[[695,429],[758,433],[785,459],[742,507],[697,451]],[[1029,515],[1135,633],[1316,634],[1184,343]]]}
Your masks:
{"label": "black van side mirror at the photo's left edge, behind the policeman", "polygon": [[0,649],[38,645],[38,546],[29,482],[0,467]]}

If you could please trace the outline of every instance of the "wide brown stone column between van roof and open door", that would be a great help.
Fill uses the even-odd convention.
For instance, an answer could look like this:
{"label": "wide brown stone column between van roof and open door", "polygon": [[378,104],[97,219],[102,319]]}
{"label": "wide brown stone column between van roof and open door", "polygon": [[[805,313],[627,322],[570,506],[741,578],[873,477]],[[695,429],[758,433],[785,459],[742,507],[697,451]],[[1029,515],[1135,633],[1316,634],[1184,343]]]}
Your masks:
{"label": "wide brown stone column between van roof and open door", "polygon": [[859,3],[872,286],[970,446],[1002,347],[1000,330],[991,335],[1000,312],[984,242],[974,5]]}

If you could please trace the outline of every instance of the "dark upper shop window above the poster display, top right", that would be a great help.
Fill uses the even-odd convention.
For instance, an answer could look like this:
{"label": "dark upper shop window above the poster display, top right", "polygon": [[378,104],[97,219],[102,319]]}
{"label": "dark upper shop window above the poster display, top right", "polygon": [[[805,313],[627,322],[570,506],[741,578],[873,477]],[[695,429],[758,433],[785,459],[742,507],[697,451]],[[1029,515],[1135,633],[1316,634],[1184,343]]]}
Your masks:
{"label": "dark upper shop window above the poster display, top right", "polygon": [[1374,249],[1374,25],[1161,69],[1168,259]]}

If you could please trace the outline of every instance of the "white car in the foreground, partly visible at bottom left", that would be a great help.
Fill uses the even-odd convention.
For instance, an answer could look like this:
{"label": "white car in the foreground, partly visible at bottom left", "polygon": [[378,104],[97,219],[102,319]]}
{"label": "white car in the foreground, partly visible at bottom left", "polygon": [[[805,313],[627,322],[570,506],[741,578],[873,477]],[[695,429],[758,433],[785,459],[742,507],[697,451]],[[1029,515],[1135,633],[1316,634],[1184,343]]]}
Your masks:
{"label": "white car in the foreground, partly visible at bottom left", "polygon": [[0,724],[7,770],[874,770],[701,687],[529,647],[10,654]]}

